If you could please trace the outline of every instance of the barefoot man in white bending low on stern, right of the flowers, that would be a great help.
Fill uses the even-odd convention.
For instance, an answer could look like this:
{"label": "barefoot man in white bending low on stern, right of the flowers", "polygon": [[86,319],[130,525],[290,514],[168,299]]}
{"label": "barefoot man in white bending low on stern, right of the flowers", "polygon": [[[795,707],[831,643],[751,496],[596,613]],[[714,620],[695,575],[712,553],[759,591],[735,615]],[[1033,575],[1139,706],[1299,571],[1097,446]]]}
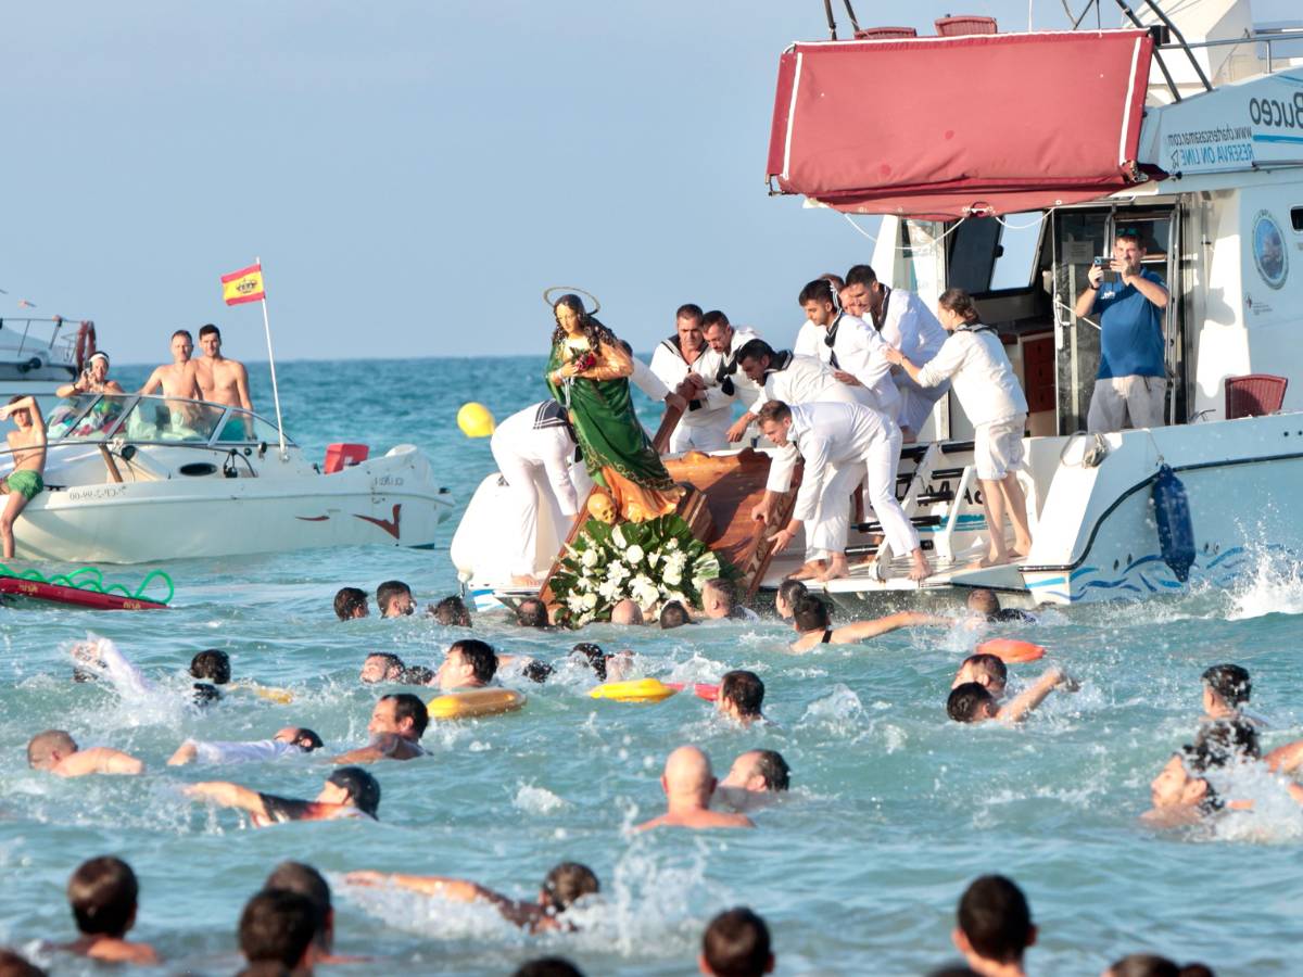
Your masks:
{"label": "barefoot man in white bending low on stern, right of the flowers", "polygon": [[[891,418],[863,404],[788,405],[777,400],[766,403],[758,417],[760,430],[783,448],[769,470],[766,502],[791,488],[796,459],[805,461],[792,518],[770,537],[775,551],[791,543],[804,525],[808,547],[827,554],[827,567],[818,573],[818,580],[848,576],[850,494],[866,475],[868,496],[891,552],[909,555],[911,580],[928,577],[930,568],[919,543],[919,531],[895,498],[900,429]],[[757,505],[757,512],[764,505]],[[805,569],[810,569],[809,563]]]}

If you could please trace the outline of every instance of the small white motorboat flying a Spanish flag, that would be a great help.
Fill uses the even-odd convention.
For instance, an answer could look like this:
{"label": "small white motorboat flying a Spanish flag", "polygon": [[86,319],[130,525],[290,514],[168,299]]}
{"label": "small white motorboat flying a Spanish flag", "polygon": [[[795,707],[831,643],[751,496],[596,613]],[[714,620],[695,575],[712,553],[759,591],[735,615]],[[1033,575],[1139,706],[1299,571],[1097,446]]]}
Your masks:
{"label": "small white motorboat flying a Spanish flag", "polygon": [[81,395],[51,412],[47,432],[47,491],[14,526],[26,559],[430,547],[453,507],[413,446],[365,459],[336,452],[323,472],[293,442],[281,451],[275,425],[220,404]]}

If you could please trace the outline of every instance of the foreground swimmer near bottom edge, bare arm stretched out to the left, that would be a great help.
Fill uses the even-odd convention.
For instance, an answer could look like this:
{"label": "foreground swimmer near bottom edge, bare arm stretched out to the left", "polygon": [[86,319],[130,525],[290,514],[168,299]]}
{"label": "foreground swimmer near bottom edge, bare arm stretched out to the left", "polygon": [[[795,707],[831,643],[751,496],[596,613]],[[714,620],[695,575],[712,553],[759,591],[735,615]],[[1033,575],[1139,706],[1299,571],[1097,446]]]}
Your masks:
{"label": "foreground swimmer near bottom edge, bare arm stretched out to the left", "polygon": [[456,903],[489,903],[502,913],[503,918],[530,933],[573,930],[575,926],[563,918],[566,911],[599,891],[593,870],[573,861],[564,861],[547,873],[536,901],[520,901],[476,882],[443,875],[351,871],[344,881],[354,886],[390,885]]}

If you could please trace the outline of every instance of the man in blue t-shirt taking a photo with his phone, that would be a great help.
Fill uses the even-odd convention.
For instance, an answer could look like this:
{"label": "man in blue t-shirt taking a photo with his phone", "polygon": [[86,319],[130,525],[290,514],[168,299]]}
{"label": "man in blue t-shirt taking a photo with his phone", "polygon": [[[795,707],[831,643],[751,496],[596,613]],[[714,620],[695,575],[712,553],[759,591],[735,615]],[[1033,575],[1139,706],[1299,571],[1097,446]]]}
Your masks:
{"label": "man in blue t-shirt taking a photo with his phone", "polygon": [[[1085,427],[1092,434],[1123,427],[1160,427],[1165,422],[1162,279],[1140,267],[1144,248],[1134,231],[1119,231],[1109,267],[1121,280],[1101,284],[1104,268],[1089,271],[1076,300],[1076,314],[1100,317],[1100,373]],[[1130,418],[1130,425],[1127,419]]]}

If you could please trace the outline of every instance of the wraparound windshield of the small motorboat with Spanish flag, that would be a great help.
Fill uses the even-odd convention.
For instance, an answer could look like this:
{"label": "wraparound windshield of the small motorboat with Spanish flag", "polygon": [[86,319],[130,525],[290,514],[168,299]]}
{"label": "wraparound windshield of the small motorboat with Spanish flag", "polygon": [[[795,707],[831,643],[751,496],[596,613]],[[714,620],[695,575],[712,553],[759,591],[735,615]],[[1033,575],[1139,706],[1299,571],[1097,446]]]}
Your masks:
{"label": "wraparound windshield of the small motorboat with Spanish flag", "polygon": [[280,439],[275,425],[241,408],[136,393],[68,397],[51,410],[46,430],[51,442],[270,444]]}

